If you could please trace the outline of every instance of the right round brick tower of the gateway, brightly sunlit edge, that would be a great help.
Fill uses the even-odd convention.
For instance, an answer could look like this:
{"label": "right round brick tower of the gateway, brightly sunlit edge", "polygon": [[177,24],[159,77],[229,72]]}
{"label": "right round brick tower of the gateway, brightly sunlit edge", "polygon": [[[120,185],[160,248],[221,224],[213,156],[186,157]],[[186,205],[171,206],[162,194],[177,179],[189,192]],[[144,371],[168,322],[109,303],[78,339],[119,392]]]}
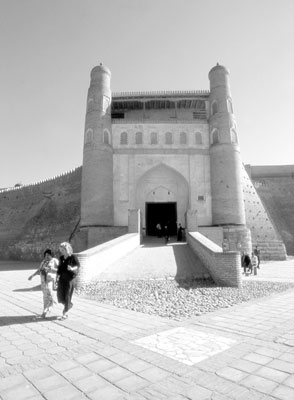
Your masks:
{"label": "right round brick tower of the gateway, brightly sunlit edge", "polygon": [[209,72],[209,130],[213,225],[245,225],[242,162],[229,71],[217,64]]}

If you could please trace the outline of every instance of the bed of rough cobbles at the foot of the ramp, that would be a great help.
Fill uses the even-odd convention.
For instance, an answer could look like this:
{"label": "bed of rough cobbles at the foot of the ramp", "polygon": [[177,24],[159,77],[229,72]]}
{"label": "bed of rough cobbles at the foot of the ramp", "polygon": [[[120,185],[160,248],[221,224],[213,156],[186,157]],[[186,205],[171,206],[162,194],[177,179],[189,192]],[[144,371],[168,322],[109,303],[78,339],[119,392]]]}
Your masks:
{"label": "bed of rough cobbles at the foot of the ramp", "polygon": [[290,288],[294,288],[293,283],[245,281],[239,289],[219,287],[211,280],[129,280],[91,282],[77,294],[119,308],[179,320]]}

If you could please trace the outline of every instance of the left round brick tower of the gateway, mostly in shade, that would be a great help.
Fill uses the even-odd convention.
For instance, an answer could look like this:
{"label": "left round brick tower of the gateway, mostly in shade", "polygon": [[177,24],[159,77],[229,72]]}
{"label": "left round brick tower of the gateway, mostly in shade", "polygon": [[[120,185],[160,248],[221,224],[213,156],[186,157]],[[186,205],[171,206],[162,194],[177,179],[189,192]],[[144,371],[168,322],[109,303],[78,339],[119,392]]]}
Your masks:
{"label": "left round brick tower of the gateway, mostly in shade", "polygon": [[113,148],[111,72],[100,64],[91,71],[84,133],[81,227],[113,225]]}

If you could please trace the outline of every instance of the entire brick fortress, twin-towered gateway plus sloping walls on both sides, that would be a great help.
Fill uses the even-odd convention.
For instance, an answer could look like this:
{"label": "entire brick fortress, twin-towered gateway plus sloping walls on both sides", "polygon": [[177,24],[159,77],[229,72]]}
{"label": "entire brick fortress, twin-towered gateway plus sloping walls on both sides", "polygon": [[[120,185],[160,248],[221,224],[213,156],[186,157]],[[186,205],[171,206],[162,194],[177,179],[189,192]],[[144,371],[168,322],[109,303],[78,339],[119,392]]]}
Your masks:
{"label": "entire brick fortress, twin-towered gateway plus sloping walls on both sides", "polygon": [[209,91],[112,94],[110,78],[103,65],[91,72],[83,165],[0,190],[0,259],[39,260],[70,240],[88,279],[168,222],[221,276],[241,273],[239,251],[255,245],[263,259],[285,259],[283,241],[294,254],[294,166],[248,176],[225,67],[211,69]]}

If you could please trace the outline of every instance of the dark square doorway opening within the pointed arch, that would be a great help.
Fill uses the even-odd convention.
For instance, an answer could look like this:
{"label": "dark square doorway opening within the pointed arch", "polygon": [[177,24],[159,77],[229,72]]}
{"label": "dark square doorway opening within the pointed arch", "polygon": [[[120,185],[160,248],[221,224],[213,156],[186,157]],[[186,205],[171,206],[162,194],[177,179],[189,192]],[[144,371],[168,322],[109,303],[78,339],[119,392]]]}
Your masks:
{"label": "dark square doorway opening within the pointed arch", "polygon": [[146,203],[146,234],[156,236],[158,223],[169,223],[170,234],[177,234],[177,203]]}

